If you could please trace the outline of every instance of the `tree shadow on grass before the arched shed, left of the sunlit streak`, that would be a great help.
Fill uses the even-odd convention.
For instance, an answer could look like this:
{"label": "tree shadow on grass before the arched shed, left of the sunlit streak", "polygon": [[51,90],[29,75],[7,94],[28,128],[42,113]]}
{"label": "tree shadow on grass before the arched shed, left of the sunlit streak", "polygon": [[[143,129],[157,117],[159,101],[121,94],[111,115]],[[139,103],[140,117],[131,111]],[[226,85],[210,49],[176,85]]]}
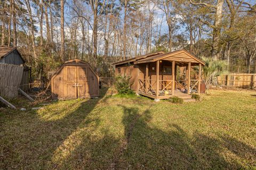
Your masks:
{"label": "tree shadow on grass before the arched shed, left of the sunlit streak", "polygon": [[[66,143],[66,146],[63,146],[63,142],[73,137],[79,129],[90,126],[97,128],[99,125],[100,118],[90,116],[90,113],[105,96],[106,91],[107,88],[102,89],[98,99],[73,100],[70,101],[71,105],[67,104],[66,108],[58,108],[55,109],[56,111],[47,110],[45,107],[46,111],[42,114],[38,114],[39,111],[29,111],[5,115],[5,120],[1,121],[3,123],[1,129],[4,130],[0,132],[0,141],[2,141],[0,169],[58,168],[59,165],[55,160],[60,162],[62,160],[59,158],[53,160],[53,157],[59,154],[59,150],[63,150],[62,156],[65,154],[68,156],[72,151],[65,152],[65,147],[70,149],[76,145],[74,140],[70,140],[73,143]],[[75,107],[73,112],[58,117],[72,107]],[[49,108],[51,109],[51,106]],[[49,116],[47,112],[52,114]]]}

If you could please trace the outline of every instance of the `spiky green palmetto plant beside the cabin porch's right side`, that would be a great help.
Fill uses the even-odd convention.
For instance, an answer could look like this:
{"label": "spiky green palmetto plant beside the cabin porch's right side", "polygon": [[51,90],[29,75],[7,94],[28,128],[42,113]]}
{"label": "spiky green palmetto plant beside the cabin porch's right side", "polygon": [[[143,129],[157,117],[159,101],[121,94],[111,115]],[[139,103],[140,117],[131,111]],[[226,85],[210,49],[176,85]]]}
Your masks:
{"label": "spiky green palmetto plant beside the cabin porch's right side", "polygon": [[207,90],[219,75],[226,72],[227,63],[210,57],[202,57],[202,60],[205,62],[205,66],[202,67],[202,82],[205,83]]}

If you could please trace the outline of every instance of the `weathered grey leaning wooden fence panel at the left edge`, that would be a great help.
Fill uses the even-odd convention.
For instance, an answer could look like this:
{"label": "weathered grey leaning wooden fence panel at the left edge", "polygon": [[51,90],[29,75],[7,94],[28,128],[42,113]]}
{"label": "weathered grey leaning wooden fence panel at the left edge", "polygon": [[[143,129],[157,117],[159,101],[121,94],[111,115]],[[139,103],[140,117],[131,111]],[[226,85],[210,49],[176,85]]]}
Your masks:
{"label": "weathered grey leaning wooden fence panel at the left edge", "polygon": [[7,98],[18,96],[22,74],[22,66],[0,64],[0,96]]}

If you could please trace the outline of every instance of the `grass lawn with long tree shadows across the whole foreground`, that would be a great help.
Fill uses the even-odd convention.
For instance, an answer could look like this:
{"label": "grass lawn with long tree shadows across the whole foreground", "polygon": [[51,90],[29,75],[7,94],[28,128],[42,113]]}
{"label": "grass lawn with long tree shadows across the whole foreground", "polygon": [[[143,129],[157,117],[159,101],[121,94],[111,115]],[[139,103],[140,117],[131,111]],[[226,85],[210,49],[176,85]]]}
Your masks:
{"label": "grass lawn with long tree shadows across the whole foreground", "polygon": [[0,109],[0,169],[256,169],[256,91],[180,105],[106,91]]}

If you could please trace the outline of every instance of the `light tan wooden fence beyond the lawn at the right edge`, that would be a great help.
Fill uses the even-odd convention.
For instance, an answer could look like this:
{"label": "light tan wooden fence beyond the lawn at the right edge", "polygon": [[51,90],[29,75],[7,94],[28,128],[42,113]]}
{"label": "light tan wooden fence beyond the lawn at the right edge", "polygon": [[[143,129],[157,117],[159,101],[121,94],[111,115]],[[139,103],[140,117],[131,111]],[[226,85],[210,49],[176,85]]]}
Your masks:
{"label": "light tan wooden fence beyond the lawn at the right edge", "polygon": [[217,82],[221,86],[255,89],[256,74],[246,74],[246,73],[223,74],[217,78]]}

